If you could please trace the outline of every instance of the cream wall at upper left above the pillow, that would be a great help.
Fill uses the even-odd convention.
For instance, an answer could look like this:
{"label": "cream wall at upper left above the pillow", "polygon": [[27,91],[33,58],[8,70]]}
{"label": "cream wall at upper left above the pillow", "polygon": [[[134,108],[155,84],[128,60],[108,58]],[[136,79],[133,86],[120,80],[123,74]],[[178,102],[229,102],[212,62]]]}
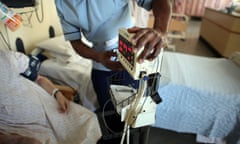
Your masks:
{"label": "cream wall at upper left above the pillow", "polygon": [[[41,3],[43,3],[43,11]],[[54,0],[38,0],[38,4],[35,7],[18,8],[13,9],[13,11],[21,15],[23,25],[17,31],[12,32],[2,23],[0,24],[0,31],[12,50],[16,50],[16,39],[21,38],[24,41],[26,53],[31,52],[35,48],[35,43],[49,38],[48,31],[50,26],[54,28],[55,35],[62,34]],[[42,22],[37,19],[37,15],[40,20],[43,18]],[[2,38],[0,40],[2,41]]]}

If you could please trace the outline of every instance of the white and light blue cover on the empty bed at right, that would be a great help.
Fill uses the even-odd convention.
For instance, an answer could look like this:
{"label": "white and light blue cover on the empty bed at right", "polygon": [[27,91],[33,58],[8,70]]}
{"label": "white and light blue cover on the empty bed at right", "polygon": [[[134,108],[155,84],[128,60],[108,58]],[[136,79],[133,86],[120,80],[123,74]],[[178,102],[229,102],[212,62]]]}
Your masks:
{"label": "white and light blue cover on the empty bed at right", "polygon": [[165,52],[155,127],[225,138],[239,128],[240,68],[232,61]]}

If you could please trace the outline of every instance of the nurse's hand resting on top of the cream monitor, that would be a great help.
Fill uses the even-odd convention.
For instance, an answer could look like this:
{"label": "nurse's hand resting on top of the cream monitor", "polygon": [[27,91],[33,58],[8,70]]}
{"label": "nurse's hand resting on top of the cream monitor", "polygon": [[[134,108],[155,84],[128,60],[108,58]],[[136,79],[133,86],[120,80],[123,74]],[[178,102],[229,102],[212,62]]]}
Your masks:
{"label": "nurse's hand resting on top of the cream monitor", "polygon": [[135,52],[144,46],[144,50],[138,57],[138,62],[144,59],[152,61],[160,53],[161,48],[167,47],[166,34],[161,34],[152,28],[133,27],[128,29],[129,33],[135,33],[132,42],[135,44]]}

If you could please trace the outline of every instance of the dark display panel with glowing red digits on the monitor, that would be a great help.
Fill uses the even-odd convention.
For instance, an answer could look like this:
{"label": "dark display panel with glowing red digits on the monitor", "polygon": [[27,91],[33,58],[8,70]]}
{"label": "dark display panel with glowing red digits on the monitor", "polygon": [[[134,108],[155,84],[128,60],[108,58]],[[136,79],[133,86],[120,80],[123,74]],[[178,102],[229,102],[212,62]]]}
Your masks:
{"label": "dark display panel with glowing red digits on the monitor", "polygon": [[129,64],[134,66],[133,45],[121,35],[119,35],[118,43],[118,51],[126,58]]}

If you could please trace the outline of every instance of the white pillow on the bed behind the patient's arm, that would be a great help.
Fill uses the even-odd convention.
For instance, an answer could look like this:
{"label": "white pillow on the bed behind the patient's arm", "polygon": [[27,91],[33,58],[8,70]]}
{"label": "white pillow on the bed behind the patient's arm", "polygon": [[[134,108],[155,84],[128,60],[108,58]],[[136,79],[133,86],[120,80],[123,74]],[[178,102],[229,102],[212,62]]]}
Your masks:
{"label": "white pillow on the bed behind the patient's arm", "polygon": [[44,50],[60,63],[76,62],[81,58],[63,35],[41,41],[36,44],[36,47]]}

